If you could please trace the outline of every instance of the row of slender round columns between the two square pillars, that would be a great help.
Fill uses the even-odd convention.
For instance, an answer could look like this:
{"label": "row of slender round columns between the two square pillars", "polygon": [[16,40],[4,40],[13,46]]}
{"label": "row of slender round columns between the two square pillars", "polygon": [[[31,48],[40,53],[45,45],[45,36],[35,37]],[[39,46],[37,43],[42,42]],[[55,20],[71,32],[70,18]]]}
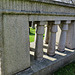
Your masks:
{"label": "row of slender round columns between the two square pillars", "polygon": [[[43,59],[43,43],[48,44],[47,55],[55,55],[56,46],[56,33],[58,32],[58,25],[62,24],[62,32],[60,35],[60,41],[58,44],[58,51],[65,51],[66,36],[68,31],[68,25],[71,21],[48,21],[48,22],[37,22],[36,35],[35,35],[35,59]],[[46,25],[46,28],[44,27]],[[45,38],[43,42],[43,34],[45,28]]]}

